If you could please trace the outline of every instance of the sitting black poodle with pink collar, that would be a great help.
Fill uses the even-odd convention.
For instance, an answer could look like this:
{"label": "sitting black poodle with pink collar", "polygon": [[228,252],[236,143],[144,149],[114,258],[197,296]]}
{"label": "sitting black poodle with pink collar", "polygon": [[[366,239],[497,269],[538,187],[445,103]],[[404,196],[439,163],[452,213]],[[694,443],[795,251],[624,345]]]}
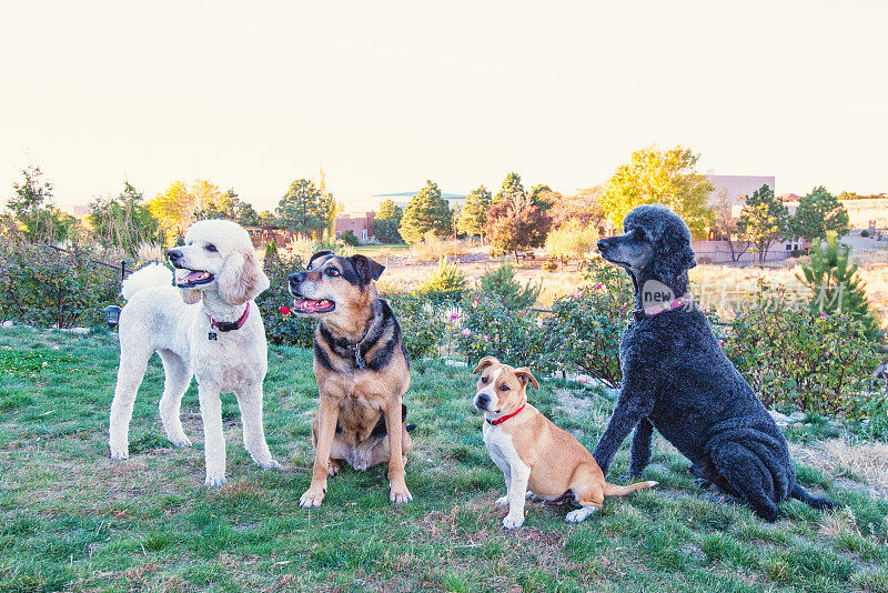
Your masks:
{"label": "sitting black poodle with pink collar", "polygon": [[619,346],[619,400],[593,453],[602,471],[635,429],[628,475],[639,475],[657,429],[700,483],[743,499],[765,520],[777,517],[787,496],[831,509],[798,485],[780,429],[694,306],[687,270],[696,261],[685,222],[665,207],[639,205],[623,230],[598,241],[602,257],[624,268],[635,288],[634,319]]}

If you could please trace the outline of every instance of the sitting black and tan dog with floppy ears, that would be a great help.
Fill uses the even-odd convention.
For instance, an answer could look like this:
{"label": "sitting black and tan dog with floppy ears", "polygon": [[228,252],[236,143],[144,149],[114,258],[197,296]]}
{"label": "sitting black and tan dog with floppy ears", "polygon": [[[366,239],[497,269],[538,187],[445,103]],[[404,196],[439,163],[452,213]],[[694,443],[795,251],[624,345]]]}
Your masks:
{"label": "sitting black and tan dog with floppy ears", "polygon": [[384,269],[365,255],[320,251],[309,260],[307,270],[290,275],[294,311],[320,319],[314,334],[321,400],[312,424],[314,466],[300,506],[321,505],[327,475],[340,471],[337,460],[355,470],[389,462],[389,499],[413,500],[404,482],[412,441],[402,403],[410,386],[410,362],[401,325],[376,293],[374,280]]}

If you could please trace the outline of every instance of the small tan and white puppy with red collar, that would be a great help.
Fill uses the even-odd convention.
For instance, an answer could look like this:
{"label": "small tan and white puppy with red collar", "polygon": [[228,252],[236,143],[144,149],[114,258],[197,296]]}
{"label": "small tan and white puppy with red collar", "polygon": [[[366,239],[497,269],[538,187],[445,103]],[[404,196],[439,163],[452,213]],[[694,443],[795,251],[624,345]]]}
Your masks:
{"label": "small tan and white puppy with red collar", "polygon": [[524,524],[525,496],[579,504],[566,519],[579,523],[602,506],[605,496],[622,496],[657,484],[618,486],[605,482],[592,453],[527,403],[527,383],[539,389],[527,368],[513,369],[486,356],[473,372],[481,373],[474,404],[484,412],[484,443],[506,479],[506,495],[496,501],[508,506],[504,527]]}

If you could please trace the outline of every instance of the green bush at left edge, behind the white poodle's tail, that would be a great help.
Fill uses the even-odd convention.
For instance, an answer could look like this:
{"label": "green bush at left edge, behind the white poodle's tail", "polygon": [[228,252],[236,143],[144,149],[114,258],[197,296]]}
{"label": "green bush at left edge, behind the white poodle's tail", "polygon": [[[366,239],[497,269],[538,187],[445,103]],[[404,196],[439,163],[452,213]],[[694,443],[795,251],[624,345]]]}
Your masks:
{"label": "green bush at left edge, behind the white poodle's tail", "polygon": [[74,241],[68,251],[27,242],[0,245],[0,318],[70,328],[102,323],[119,300],[120,272],[91,262],[98,253]]}

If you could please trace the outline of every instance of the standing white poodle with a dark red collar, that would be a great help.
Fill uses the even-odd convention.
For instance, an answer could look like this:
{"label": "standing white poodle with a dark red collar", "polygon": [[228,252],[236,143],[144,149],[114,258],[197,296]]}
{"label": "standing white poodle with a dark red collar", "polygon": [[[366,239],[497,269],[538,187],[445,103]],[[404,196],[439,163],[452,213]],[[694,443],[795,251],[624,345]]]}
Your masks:
{"label": "standing white poodle with a dark red collar", "polygon": [[123,282],[121,292],[128,303],[120,315],[111,459],[129,456],[135,393],[157,352],[165,373],[160,416],[176,446],[191,445],[179,410],[192,374],[198,379],[206,485],[225,483],[221,393],[238,396],[244,446],[253,461],[265,469],[279,468],[262,428],[268,352],[262,318],[252,301],[269,288],[269,279],[256,261],[250,235],[234,222],[200,221],[185,233],[185,244],[167,255],[176,269],[178,288],[172,285],[173,274],[161,264],[143,268]]}

